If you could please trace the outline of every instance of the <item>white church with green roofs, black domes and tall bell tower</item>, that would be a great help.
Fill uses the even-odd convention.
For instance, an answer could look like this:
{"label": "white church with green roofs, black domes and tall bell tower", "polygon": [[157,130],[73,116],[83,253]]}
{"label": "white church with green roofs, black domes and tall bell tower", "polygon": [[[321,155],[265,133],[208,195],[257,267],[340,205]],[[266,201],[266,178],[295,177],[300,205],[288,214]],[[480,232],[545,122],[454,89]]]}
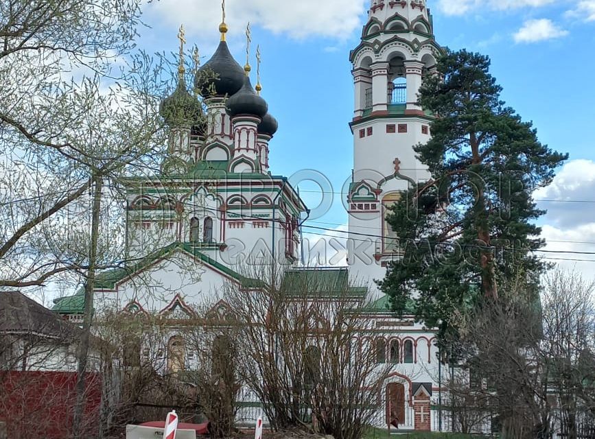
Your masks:
{"label": "white church with green roofs, black domes and tall bell tower", "polygon": [[[277,121],[259,80],[255,87],[250,83],[248,63],[242,68],[231,55],[227,30],[222,23],[218,49],[196,72],[192,88],[202,104],[189,91],[180,63],[177,88],[161,104],[171,131],[168,157],[161,174],[127,182],[130,263],[97,279],[95,309],[168,318],[184,318],[197,307],[215,309],[224,305],[224,285],[250,289],[261,281],[238,269],[246,255],[292,272],[319,270],[299,263],[307,206],[288,178],[269,169],[270,149],[281,147],[273,141]],[[350,54],[355,99],[347,204],[353,245],[347,268],[321,272],[369,285],[366,318],[374,329],[365,337],[378,363],[391,370],[379,396],[377,427],[441,428],[432,410],[442,392],[434,331],[411,313],[391,313],[373,282],[399,257],[386,209],[400,191],[430,179],[412,146],[431,135],[431,116],[417,105],[417,91],[441,51],[425,0],[372,0],[361,42]],[[209,71],[215,73],[210,79],[202,74]],[[57,300],[54,309],[78,322],[83,307],[79,292]]]}

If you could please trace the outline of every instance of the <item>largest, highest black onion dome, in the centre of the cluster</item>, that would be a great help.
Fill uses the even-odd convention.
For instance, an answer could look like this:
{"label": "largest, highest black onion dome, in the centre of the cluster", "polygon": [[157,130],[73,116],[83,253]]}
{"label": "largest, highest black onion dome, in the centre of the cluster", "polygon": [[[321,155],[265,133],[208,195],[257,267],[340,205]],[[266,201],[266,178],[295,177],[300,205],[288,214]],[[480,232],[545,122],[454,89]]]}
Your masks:
{"label": "largest, highest black onion dome, in the centre of the cluster", "polygon": [[202,96],[213,93],[211,84],[219,96],[231,96],[244,84],[244,69],[233,59],[225,41],[219,43],[211,59],[200,67],[194,78],[194,85]]}

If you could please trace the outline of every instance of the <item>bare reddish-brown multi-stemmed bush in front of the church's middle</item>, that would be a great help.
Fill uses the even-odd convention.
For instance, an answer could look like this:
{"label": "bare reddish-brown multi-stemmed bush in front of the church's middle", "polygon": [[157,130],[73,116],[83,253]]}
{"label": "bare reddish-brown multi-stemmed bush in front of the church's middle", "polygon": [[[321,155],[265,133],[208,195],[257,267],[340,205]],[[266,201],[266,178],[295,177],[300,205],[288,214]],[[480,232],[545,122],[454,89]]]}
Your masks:
{"label": "bare reddish-brown multi-stemmed bush in front of the church's middle", "polygon": [[377,364],[362,316],[365,288],[346,270],[283,270],[246,265],[262,285],[228,285],[237,319],[240,375],[275,429],[314,428],[355,439],[380,404],[388,366]]}

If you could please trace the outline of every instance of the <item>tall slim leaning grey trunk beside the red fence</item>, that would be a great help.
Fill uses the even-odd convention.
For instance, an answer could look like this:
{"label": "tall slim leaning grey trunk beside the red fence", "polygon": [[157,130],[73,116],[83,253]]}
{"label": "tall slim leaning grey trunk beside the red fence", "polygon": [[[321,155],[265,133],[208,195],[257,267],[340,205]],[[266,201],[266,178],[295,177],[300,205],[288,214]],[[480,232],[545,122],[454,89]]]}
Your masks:
{"label": "tall slim leaning grey trunk beside the red fence", "polygon": [[83,414],[85,408],[85,371],[89,360],[89,340],[91,339],[91,324],[93,322],[93,287],[95,285],[95,270],[97,267],[97,240],[99,235],[100,208],[102,197],[102,177],[93,174],[93,211],[91,218],[91,239],[89,240],[89,268],[84,285],[84,313],[82,335],[78,345],[78,374],[76,381],[76,403],[72,422],[72,437],[83,437]]}

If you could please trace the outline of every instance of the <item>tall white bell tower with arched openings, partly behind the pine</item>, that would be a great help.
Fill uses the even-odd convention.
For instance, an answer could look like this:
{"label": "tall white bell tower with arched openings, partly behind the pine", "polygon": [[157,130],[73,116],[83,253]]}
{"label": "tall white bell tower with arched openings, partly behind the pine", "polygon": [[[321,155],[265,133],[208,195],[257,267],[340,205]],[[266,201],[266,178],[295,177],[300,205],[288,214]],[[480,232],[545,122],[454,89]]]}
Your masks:
{"label": "tall white bell tower with arched openings, partly behind the pine", "polygon": [[353,178],[349,185],[349,272],[354,282],[382,279],[399,243],[384,218],[399,193],[430,179],[413,146],[430,139],[432,115],[417,104],[425,75],[443,49],[426,0],[371,0],[351,51],[355,91]]}

